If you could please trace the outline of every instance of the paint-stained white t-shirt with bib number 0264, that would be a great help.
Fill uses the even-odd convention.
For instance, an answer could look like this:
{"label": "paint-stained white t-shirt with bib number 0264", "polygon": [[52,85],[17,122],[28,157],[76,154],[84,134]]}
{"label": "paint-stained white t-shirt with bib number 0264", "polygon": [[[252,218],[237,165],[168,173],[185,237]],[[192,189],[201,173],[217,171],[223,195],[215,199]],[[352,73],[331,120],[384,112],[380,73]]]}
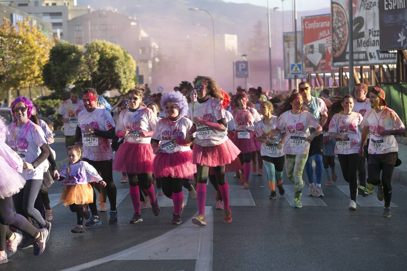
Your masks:
{"label": "paint-stained white t-shirt with bib number 0264", "polygon": [[125,136],[124,142],[150,144],[151,137],[140,137],[137,131],[153,131],[157,121],[157,115],[145,106],[140,106],[135,112],[126,109],[120,112],[117,119],[116,133],[126,128],[130,132]]}

